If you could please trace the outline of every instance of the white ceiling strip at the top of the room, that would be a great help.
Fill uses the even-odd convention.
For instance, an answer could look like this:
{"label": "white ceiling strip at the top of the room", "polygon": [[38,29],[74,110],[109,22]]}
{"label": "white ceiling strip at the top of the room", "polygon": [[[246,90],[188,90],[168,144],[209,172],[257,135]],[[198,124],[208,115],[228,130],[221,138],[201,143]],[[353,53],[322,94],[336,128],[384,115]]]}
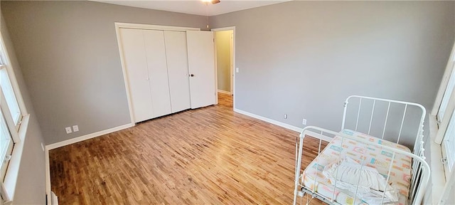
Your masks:
{"label": "white ceiling strip at the top of the room", "polygon": [[151,1],[115,1],[115,0],[90,0],[107,4],[117,4],[123,6],[134,6],[145,9],[156,9],[163,11],[174,11],[185,14],[196,14],[201,16],[216,16],[233,11],[252,9],[259,6],[278,4],[291,0],[220,0],[218,4],[205,5],[201,0],[151,0]]}

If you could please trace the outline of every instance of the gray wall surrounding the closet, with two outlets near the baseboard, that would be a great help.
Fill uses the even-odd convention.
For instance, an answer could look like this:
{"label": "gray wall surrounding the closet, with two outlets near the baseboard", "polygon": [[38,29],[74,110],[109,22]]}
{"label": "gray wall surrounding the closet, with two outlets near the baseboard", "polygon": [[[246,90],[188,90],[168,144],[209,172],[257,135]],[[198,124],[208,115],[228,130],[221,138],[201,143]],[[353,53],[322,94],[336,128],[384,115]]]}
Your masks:
{"label": "gray wall surrounding the closet, with two outlets near the baseboard", "polygon": [[[205,16],[91,1],[1,1],[46,144],[130,122],[114,22],[205,28]],[[64,127],[79,125],[69,135]]]}

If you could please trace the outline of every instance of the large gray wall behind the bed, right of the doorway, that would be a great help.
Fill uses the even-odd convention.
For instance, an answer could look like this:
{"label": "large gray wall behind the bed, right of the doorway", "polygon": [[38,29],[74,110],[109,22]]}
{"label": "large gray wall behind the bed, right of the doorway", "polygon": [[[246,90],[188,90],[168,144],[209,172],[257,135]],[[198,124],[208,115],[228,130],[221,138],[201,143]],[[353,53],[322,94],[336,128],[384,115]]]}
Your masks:
{"label": "large gray wall behind the bed, right of the doorway", "polygon": [[432,107],[454,14],[451,1],[290,1],[210,21],[236,29],[237,109],[339,130],[348,95]]}

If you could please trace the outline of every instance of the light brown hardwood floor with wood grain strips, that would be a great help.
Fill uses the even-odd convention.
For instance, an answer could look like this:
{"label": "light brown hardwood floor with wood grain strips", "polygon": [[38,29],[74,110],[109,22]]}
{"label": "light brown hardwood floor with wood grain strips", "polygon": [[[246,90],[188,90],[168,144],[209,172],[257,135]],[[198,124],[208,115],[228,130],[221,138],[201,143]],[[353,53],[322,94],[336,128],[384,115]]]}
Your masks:
{"label": "light brown hardwood floor with wood grain strips", "polygon": [[[59,203],[291,204],[299,133],[235,113],[232,96],[219,98],[50,150]],[[304,167],[317,143],[305,138]]]}

